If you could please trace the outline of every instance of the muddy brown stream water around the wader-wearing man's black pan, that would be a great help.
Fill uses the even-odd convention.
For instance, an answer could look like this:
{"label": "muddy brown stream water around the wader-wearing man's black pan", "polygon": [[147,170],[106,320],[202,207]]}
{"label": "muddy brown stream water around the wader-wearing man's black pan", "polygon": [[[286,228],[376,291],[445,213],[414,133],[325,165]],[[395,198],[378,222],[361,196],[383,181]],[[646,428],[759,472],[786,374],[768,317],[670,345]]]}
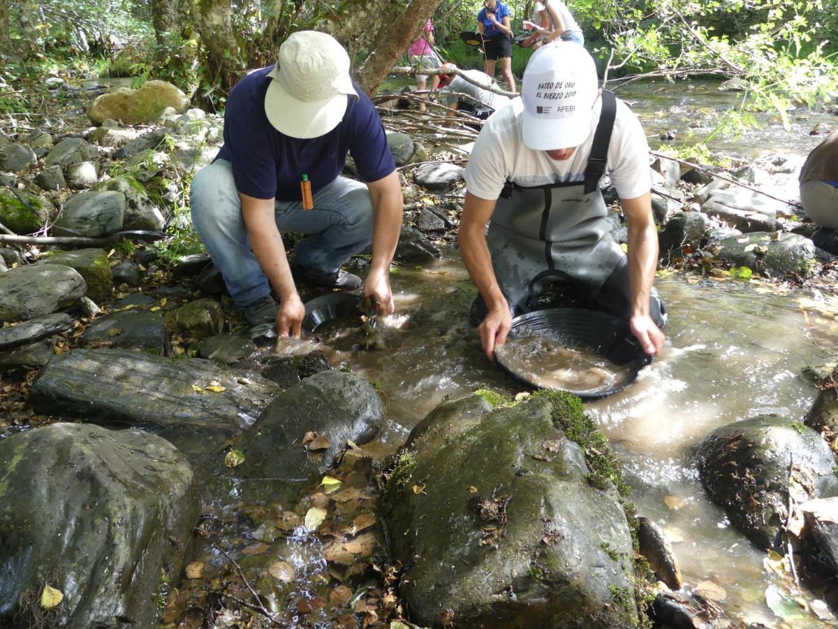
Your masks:
{"label": "muddy brown stream water around the wader-wearing man's black pan", "polygon": [[[385,441],[401,443],[447,395],[483,384],[525,390],[487,361],[465,322],[470,283],[455,254],[426,268],[400,268],[392,281],[400,329],[392,329],[391,350],[333,353],[335,362],[378,382],[389,398]],[[657,286],[670,309],[660,359],[627,390],[587,408],[618,450],[640,512],[674,541],[685,580],[713,581],[727,592],[727,610],[784,626],[765,603],[773,588],[769,598],[780,609],[782,583],[763,567],[764,552],[706,500],[691,447],[716,426],[756,413],[802,419],[816,390],[800,369],[829,358],[838,319],[835,311],[814,309],[803,291],[754,282],[673,275]],[[823,626],[785,603],[782,613],[792,626]]]}

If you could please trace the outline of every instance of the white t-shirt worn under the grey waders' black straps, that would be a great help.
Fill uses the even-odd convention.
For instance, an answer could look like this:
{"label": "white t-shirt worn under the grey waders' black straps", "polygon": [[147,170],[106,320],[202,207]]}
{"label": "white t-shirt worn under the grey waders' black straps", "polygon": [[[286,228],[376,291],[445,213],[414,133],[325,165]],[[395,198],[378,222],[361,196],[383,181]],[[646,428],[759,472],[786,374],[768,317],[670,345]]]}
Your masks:
{"label": "white t-shirt worn under the grey waders' black straps", "polygon": [[[489,117],[480,131],[463,173],[466,190],[480,199],[495,200],[506,179],[521,186],[583,181],[601,109],[602,99],[597,98],[591,131],[572,157],[551,159],[544,151],[525,147],[521,133],[524,103],[520,98],[513,99],[510,106]],[[651,187],[649,144],[643,127],[629,106],[619,99],[608,143],[606,174],[611,177],[621,199],[636,199]]]}

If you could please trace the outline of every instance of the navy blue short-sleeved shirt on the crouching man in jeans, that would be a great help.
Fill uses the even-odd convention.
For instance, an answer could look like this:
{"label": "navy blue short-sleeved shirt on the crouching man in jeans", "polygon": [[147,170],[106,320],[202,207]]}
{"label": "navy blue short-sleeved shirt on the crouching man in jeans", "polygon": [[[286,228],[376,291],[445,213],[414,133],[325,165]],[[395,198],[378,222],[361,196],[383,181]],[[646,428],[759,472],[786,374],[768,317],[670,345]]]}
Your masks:
{"label": "navy blue short-sleeved shirt on the crouching man in jeans", "polygon": [[279,133],[265,113],[271,70],[251,72],[227,98],[224,146],[215,159],[233,165],[239,192],[256,199],[300,200],[303,173],[317,192],[338,178],[347,151],[363,181],[377,181],[396,169],[378,112],[357,85],[358,98],[347,96],[344,119],[326,135],[303,140]]}

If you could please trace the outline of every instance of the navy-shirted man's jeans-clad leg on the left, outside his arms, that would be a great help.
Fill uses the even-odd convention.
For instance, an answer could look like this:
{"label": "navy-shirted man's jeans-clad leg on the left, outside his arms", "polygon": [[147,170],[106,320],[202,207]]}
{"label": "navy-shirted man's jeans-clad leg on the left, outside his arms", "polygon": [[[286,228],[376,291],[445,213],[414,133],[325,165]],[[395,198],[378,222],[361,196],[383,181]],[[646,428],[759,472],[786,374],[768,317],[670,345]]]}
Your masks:
{"label": "navy-shirted man's jeans-clad leg on the left, outside his arms", "polygon": [[189,206],[195,231],[235,304],[243,308],[270,294],[265,273],[251,252],[230,162],[219,159],[195,174]]}

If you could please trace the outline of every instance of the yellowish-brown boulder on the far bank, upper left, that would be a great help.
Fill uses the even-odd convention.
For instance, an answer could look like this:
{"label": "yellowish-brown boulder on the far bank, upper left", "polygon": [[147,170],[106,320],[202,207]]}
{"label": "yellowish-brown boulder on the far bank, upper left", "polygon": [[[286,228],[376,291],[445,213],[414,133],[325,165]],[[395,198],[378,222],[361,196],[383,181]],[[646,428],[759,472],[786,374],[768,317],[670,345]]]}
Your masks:
{"label": "yellowish-brown boulder on the far bank, upper left", "polygon": [[137,90],[120,87],[97,96],[87,115],[94,124],[101,124],[108,118],[125,124],[141,124],[156,121],[166,107],[185,112],[189,98],[171,83],[148,81]]}

